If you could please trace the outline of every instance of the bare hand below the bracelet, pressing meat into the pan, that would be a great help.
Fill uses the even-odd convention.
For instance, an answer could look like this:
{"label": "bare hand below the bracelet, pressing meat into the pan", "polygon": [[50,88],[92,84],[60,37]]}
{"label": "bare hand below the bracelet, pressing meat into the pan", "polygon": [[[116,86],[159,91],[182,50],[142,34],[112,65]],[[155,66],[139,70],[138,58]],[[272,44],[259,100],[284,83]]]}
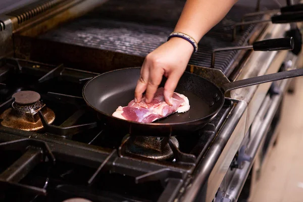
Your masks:
{"label": "bare hand below the bracelet, pressing meat into the pan", "polygon": [[141,101],[142,93],[146,90],[145,102],[150,103],[164,75],[167,77],[164,85],[165,102],[172,105],[171,98],[192,52],[193,46],[188,41],[173,37],[148,54],[135,89],[135,102]]}

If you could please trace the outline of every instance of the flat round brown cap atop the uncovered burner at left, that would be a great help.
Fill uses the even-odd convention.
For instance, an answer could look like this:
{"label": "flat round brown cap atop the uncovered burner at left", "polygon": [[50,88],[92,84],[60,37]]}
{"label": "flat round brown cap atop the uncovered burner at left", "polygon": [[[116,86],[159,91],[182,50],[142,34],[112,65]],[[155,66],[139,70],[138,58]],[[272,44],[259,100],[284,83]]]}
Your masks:
{"label": "flat round brown cap atop the uncovered burner at left", "polygon": [[19,105],[29,105],[36,103],[41,98],[39,93],[30,90],[16,92],[12,97],[15,97],[15,103]]}

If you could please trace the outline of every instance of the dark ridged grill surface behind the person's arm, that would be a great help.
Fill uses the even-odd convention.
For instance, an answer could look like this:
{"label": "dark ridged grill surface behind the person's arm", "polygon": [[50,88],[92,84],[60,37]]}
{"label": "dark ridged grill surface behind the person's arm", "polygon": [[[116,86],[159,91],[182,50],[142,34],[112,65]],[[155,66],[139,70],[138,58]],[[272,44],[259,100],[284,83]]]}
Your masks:
{"label": "dark ridged grill surface behind the person's arm", "polygon": [[[175,0],[109,1],[96,11],[40,38],[145,57],[167,40],[183,5],[184,1]],[[272,9],[275,6],[267,8]],[[254,11],[255,7],[235,5],[227,16],[201,39],[198,53],[192,55],[189,64],[210,67],[214,48],[246,43],[255,25],[245,27],[242,32],[238,31],[234,42],[231,42],[232,29],[245,13]],[[258,16],[254,19],[260,18],[261,16]],[[226,74],[237,53],[238,51],[218,53],[215,68]]]}

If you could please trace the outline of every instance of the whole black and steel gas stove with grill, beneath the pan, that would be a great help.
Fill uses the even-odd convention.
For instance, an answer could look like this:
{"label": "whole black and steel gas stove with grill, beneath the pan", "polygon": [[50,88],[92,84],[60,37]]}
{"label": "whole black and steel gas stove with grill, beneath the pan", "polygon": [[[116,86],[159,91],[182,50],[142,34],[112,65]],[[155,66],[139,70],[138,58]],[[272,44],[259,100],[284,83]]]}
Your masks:
{"label": "whole black and steel gas stove with grill, beneath the pan", "polygon": [[[6,44],[0,46],[0,200],[247,199],[255,162],[277,138],[276,111],[289,81],[226,93],[216,118],[193,133],[157,138],[109,127],[85,104],[84,84],[102,72],[140,66],[166,41],[184,1],[118,0],[91,11],[104,2],[36,0],[0,16]],[[281,7],[257,2],[263,10]],[[239,1],[200,41],[187,71],[221,86],[296,68],[297,57],[288,51],[235,49],[217,53],[212,65],[216,48],[284,37],[290,29],[271,23],[234,28],[255,9]]]}

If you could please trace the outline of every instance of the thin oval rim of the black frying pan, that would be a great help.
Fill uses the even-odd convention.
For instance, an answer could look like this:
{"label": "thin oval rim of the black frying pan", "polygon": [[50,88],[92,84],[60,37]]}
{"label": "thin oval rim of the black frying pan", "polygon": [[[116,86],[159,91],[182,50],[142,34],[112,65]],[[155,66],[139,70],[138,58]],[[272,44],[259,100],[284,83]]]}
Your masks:
{"label": "thin oval rim of the black frying pan", "polygon": [[[214,82],[206,79],[206,78],[203,78],[197,74],[193,74],[193,73],[190,73],[190,72],[186,72],[188,74],[191,74],[191,75],[194,75],[194,76],[197,76],[197,77],[200,77],[200,78],[203,78],[205,80],[207,80],[208,82],[212,83],[213,85],[215,85],[221,92],[221,95],[223,97],[223,100],[221,101],[221,105],[220,107],[214,111],[213,113],[209,114],[208,116],[205,116],[205,117],[202,117],[202,118],[199,118],[199,119],[195,119],[195,120],[192,120],[192,121],[185,121],[185,122],[179,122],[179,123],[140,123],[140,122],[135,122],[135,121],[127,121],[127,120],[124,120],[124,119],[119,119],[119,118],[116,118],[116,117],[113,117],[112,115],[108,115],[98,109],[96,109],[94,106],[92,106],[91,104],[89,104],[88,100],[86,99],[86,96],[85,96],[85,89],[86,89],[86,86],[91,82],[93,81],[94,79],[96,79],[97,77],[99,76],[103,76],[105,74],[108,74],[108,73],[111,73],[111,72],[116,72],[116,71],[121,71],[121,70],[126,70],[126,69],[140,69],[141,67],[127,67],[127,68],[120,68],[120,69],[116,69],[116,70],[112,70],[112,71],[108,71],[108,72],[104,72],[102,74],[99,74],[93,78],[91,78],[89,81],[87,81],[85,83],[85,85],[83,86],[83,89],[82,89],[82,96],[83,96],[83,99],[86,103],[86,105],[90,108],[92,108],[93,110],[95,110],[96,112],[104,115],[104,116],[107,116],[107,117],[110,117],[112,119],[115,119],[115,120],[118,120],[118,121],[125,121],[127,123],[130,123],[130,124],[138,124],[138,125],[142,125],[142,126],[145,126],[145,125],[149,125],[149,126],[176,126],[176,125],[183,125],[183,124],[190,124],[190,123],[193,123],[193,122],[196,122],[196,121],[199,121],[201,119],[209,119],[209,118],[214,118],[215,116],[217,116],[217,114],[219,113],[219,111],[222,109],[223,105],[224,105],[224,100],[225,100],[225,96],[224,96],[224,93],[222,92],[221,88],[218,87]],[[186,113],[186,112],[185,112]]]}

